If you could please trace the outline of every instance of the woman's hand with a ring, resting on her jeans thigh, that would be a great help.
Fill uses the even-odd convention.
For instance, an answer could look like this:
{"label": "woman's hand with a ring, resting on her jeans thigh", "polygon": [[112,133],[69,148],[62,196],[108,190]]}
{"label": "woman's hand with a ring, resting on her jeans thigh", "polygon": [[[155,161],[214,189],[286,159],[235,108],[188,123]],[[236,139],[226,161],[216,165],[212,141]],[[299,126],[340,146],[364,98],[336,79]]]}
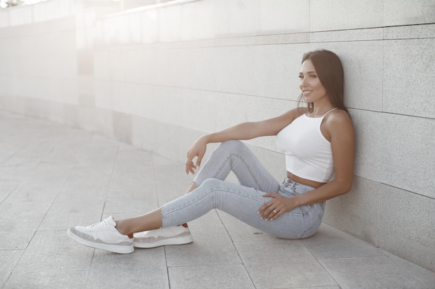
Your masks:
{"label": "woman's hand with a ring, resting on her jeans thigh", "polygon": [[260,209],[258,209],[258,215],[261,214],[261,220],[276,220],[283,213],[291,211],[297,207],[293,198],[286,198],[277,193],[265,193],[263,197],[273,198],[269,202],[263,204]]}

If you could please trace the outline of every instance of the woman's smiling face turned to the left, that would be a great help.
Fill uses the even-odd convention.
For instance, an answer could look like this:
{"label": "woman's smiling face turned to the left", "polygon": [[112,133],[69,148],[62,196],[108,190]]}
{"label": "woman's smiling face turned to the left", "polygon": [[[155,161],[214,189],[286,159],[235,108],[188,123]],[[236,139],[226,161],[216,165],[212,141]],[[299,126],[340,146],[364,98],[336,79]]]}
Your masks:
{"label": "woman's smiling face turned to the left", "polygon": [[299,79],[299,88],[302,90],[306,103],[315,103],[322,98],[328,98],[327,90],[320,82],[311,60],[307,59],[302,62]]}

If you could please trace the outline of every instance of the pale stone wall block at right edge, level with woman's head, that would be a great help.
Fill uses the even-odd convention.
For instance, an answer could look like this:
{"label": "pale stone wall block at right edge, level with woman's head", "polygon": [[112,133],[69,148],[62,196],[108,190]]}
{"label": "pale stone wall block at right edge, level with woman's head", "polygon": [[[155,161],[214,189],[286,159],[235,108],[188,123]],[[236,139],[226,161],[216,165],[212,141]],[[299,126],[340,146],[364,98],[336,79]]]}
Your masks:
{"label": "pale stone wall block at right edge, level with woman's head", "polygon": [[435,119],[435,38],[384,42],[383,110]]}

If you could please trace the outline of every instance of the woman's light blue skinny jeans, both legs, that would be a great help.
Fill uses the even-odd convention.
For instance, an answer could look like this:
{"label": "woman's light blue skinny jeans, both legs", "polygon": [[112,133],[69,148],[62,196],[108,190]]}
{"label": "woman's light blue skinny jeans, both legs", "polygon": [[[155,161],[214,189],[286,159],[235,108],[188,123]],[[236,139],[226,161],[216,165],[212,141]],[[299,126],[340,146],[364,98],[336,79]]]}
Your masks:
{"label": "woman's light blue skinny jeans, both legs", "polygon": [[[225,182],[230,171],[240,184]],[[291,198],[314,188],[286,178],[280,185],[241,141],[225,141],[218,146],[194,179],[198,188],[162,207],[162,227],[189,222],[211,209],[220,209],[268,234],[279,238],[312,236],[322,222],[325,203],[297,207],[276,220],[265,221],[258,209],[279,193]]]}

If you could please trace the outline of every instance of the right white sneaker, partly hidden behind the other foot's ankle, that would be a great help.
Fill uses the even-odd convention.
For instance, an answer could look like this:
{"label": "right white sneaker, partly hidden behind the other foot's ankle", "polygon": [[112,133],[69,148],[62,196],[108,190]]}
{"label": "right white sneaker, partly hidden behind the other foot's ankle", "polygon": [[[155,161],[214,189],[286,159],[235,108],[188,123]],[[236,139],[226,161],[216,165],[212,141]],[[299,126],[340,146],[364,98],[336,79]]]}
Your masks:
{"label": "right white sneaker, partly hidden behind the other foot's ankle", "polygon": [[154,248],[164,245],[192,243],[189,228],[183,226],[166,227],[133,234],[134,247]]}

